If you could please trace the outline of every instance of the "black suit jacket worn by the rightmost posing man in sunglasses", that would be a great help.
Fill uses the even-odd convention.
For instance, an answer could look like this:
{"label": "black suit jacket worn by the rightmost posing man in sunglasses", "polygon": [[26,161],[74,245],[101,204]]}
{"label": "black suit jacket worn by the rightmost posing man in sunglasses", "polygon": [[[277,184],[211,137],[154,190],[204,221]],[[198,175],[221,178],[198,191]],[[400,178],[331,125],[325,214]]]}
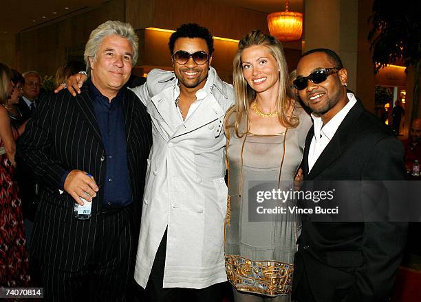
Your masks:
{"label": "black suit jacket worn by the rightmost posing man in sunglasses", "polygon": [[[402,143],[360,102],[343,119],[309,172],[313,135],[311,128],[303,156],[305,181],[406,178]],[[317,302],[388,301],[404,247],[406,223],[312,222],[308,216],[302,219],[294,260],[294,295],[306,273]]]}

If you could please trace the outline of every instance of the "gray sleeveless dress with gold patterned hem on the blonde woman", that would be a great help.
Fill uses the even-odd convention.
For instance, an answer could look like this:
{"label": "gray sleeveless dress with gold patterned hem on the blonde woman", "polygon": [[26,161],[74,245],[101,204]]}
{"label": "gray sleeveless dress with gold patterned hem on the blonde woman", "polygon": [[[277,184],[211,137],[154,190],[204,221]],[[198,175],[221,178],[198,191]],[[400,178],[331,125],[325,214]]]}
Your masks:
{"label": "gray sleeveless dress with gold patterned hem on the blonde woman", "polygon": [[[287,214],[274,216],[271,221],[250,222],[248,189],[257,183],[278,182],[279,170],[281,189],[292,189],[294,175],[303,158],[305,137],[312,126],[303,108],[295,108],[294,115],[299,117],[299,126],[288,129],[286,135],[248,133],[239,138],[234,128],[230,128],[227,148],[230,223],[225,227],[225,263],[228,280],[239,291],[270,297],[283,295],[283,301],[290,301],[299,220]],[[240,132],[245,129],[245,119],[241,121]],[[235,116],[230,120],[235,120]]]}

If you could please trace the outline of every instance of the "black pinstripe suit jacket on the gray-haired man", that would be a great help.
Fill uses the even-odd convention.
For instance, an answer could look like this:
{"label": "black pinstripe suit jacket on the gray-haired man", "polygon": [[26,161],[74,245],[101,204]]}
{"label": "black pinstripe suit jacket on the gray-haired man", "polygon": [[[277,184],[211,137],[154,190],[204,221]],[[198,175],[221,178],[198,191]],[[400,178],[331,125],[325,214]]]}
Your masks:
{"label": "black pinstripe suit jacket on the gray-haired man", "polygon": [[[142,102],[129,89],[122,105],[136,236],[152,143],[151,119]],[[40,100],[19,140],[16,155],[18,165],[29,168],[41,183],[40,204],[30,243],[30,254],[39,262],[75,271],[91,257],[104,195],[105,157],[87,84],[76,97],[68,91],[61,91],[45,95]],[[75,169],[89,172],[100,188],[92,201],[92,217],[89,220],[74,219],[73,198],[67,193],[58,193],[65,171]]]}

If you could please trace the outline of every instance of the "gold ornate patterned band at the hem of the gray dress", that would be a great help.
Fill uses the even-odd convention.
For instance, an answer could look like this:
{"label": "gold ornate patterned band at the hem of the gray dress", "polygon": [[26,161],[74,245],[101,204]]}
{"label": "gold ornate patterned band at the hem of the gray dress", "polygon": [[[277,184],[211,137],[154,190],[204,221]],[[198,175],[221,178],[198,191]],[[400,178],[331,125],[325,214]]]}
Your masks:
{"label": "gold ornate patterned band at the hem of the gray dress", "polygon": [[241,256],[226,255],[228,281],[237,290],[268,296],[290,294],[294,266],[277,261],[253,261]]}

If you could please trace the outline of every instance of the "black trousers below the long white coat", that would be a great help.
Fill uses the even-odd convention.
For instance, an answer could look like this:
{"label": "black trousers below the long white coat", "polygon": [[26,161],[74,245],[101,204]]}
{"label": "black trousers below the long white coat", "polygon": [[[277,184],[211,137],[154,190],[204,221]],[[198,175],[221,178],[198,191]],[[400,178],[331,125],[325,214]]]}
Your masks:
{"label": "black trousers below the long white coat", "polygon": [[150,302],[221,302],[224,283],[217,283],[200,290],[193,288],[162,288],[166,253],[166,231],[155,255],[151,275],[146,287],[147,301]]}

